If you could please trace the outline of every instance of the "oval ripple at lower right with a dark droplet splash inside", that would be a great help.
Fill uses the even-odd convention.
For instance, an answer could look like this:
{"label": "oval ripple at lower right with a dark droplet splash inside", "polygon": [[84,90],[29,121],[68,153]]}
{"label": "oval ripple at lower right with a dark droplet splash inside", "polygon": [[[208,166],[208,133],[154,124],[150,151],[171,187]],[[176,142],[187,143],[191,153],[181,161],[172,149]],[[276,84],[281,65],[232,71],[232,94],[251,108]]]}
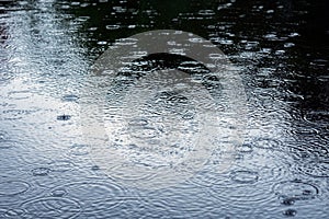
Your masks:
{"label": "oval ripple at lower right with a dark droplet splash inside", "polygon": [[302,181],[281,182],[274,186],[274,193],[283,199],[308,200],[317,197],[317,186]]}

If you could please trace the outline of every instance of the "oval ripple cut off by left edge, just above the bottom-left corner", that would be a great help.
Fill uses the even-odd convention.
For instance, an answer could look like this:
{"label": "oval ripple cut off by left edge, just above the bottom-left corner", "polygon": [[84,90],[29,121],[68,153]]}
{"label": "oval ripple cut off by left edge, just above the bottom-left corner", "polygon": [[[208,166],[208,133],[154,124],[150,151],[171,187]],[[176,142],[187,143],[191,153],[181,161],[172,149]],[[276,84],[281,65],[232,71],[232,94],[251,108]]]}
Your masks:
{"label": "oval ripple cut off by left edge, just above the bottom-left corner", "polygon": [[30,184],[22,181],[0,182],[0,196],[14,196],[29,191]]}

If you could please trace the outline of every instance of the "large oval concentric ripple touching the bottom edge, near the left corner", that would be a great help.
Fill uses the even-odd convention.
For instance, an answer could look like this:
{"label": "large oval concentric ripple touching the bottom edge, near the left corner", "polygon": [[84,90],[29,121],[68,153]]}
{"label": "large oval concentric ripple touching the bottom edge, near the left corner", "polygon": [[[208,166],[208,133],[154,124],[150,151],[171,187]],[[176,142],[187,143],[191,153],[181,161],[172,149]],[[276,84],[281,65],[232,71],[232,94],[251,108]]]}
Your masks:
{"label": "large oval concentric ripple touching the bottom edge, near the left corner", "polygon": [[25,210],[24,218],[76,218],[81,212],[77,200],[59,197],[45,197],[29,200],[22,204]]}

